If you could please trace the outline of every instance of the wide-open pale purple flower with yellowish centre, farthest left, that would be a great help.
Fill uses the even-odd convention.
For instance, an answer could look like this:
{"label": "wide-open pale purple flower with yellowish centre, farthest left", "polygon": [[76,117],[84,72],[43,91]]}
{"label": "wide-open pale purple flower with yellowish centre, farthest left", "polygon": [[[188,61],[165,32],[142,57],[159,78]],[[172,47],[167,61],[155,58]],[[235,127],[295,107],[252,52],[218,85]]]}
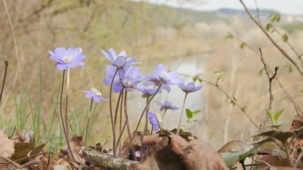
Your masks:
{"label": "wide-open pale purple flower with yellowish centre, farthest left", "polygon": [[63,47],[57,47],[55,48],[55,53],[52,51],[48,51],[48,53],[50,54],[49,58],[58,62],[58,70],[66,70],[68,68],[83,66],[84,63],[82,60],[86,58],[86,55],[81,55],[82,48],[65,49]]}

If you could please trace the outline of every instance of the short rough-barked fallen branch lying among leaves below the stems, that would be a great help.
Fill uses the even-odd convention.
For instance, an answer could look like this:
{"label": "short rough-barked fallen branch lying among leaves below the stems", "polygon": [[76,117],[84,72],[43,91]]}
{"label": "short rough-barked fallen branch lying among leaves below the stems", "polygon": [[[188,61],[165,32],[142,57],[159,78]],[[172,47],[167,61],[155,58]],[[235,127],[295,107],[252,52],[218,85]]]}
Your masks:
{"label": "short rough-barked fallen branch lying among leaves below the stems", "polygon": [[95,149],[85,147],[82,150],[82,156],[91,161],[92,165],[106,170],[126,170],[131,164],[139,163],[137,161],[114,157]]}

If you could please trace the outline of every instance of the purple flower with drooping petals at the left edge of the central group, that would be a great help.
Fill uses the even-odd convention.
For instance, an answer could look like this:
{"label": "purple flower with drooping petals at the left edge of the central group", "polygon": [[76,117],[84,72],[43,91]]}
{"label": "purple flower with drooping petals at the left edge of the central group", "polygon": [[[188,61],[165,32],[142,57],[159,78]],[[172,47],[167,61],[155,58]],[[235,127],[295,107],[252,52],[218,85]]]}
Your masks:
{"label": "purple flower with drooping petals at the left edge of the central group", "polygon": [[[111,86],[114,74],[116,73],[117,68],[114,66],[107,66],[105,70],[105,74],[108,76],[107,78],[103,79],[103,83],[105,85]],[[120,92],[122,90],[122,85],[120,82],[119,74],[116,74],[114,82],[113,82],[113,91]]]}

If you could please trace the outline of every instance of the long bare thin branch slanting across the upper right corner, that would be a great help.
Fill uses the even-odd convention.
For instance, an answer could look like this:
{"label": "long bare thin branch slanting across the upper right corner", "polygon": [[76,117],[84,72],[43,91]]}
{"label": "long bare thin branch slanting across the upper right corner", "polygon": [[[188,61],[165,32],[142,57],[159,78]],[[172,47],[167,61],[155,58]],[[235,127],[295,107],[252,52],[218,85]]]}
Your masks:
{"label": "long bare thin branch slanting across the upper right corner", "polygon": [[262,25],[254,18],[252,13],[248,10],[246,5],[244,4],[243,0],[239,0],[243,7],[245,8],[246,12],[250,16],[250,18],[255,22],[255,24],[263,31],[263,33],[268,37],[268,39],[273,43],[273,45],[296,67],[298,72],[301,74],[303,77],[303,72],[300,70],[299,66],[297,63],[272,39],[272,37],[266,32],[266,30],[262,27]]}

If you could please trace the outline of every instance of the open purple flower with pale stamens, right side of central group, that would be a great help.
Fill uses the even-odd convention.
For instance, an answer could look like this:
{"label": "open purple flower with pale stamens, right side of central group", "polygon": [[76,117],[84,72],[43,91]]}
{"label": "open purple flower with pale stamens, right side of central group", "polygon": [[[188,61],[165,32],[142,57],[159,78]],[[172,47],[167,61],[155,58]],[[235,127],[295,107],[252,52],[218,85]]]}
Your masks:
{"label": "open purple flower with pale stamens, right side of central group", "polygon": [[147,75],[147,82],[144,85],[161,85],[162,88],[169,92],[170,87],[168,85],[183,83],[183,79],[178,78],[179,74],[177,72],[167,72],[166,68],[162,64],[157,65],[156,62],[154,62],[154,65],[155,71],[153,71],[153,73],[156,76]]}

